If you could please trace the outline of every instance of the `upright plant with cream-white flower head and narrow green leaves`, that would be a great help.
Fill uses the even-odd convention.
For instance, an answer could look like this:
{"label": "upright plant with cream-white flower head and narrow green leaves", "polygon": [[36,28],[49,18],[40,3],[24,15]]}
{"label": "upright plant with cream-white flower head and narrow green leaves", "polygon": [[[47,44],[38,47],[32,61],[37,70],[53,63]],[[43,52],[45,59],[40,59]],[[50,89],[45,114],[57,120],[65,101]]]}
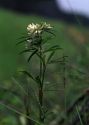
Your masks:
{"label": "upright plant with cream-white flower head and narrow green leaves", "polygon": [[[29,78],[31,78],[38,86],[38,104],[39,104],[39,123],[41,125],[44,124],[46,119],[46,113],[44,106],[44,80],[45,80],[45,72],[48,64],[60,62],[59,58],[55,61],[53,56],[57,50],[60,49],[58,45],[53,45],[52,47],[44,48],[44,44],[49,40],[48,38],[44,38],[44,33],[49,34],[49,36],[53,36],[54,33],[51,31],[52,27],[50,24],[42,23],[42,24],[29,24],[27,27],[28,35],[24,37],[25,39],[19,42],[21,44],[23,42],[26,43],[26,49],[21,53],[29,53],[28,62],[34,57],[37,56],[40,64],[39,64],[39,73],[38,75],[32,75],[28,71],[23,71]],[[26,115],[29,116],[29,92],[27,97],[26,105]],[[26,102],[25,102],[26,103]],[[37,123],[36,123],[37,124]],[[27,121],[27,125],[34,125],[30,121]]]}

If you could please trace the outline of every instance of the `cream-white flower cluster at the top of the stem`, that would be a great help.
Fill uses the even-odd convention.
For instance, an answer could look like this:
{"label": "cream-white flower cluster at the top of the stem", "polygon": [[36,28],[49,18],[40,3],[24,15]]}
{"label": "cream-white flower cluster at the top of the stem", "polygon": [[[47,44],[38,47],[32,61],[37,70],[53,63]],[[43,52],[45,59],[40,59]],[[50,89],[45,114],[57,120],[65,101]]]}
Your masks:
{"label": "cream-white flower cluster at the top of the stem", "polygon": [[27,31],[28,31],[28,34],[33,34],[33,35],[39,35],[41,34],[44,30],[49,30],[51,29],[52,27],[50,26],[50,24],[47,24],[46,22],[45,23],[42,23],[42,24],[29,24],[27,26]]}

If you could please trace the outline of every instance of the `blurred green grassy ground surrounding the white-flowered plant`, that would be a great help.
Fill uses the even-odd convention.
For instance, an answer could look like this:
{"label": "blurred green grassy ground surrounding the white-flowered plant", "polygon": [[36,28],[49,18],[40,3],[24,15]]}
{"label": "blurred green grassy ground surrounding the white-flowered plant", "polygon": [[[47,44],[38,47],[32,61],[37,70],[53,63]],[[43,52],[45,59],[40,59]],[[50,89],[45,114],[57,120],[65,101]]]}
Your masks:
{"label": "blurred green grassy ground surrounding the white-flowered plant", "polygon": [[[37,57],[41,60],[39,63],[35,55],[32,58],[32,56],[29,56],[29,52],[23,51],[26,52],[24,55],[25,59],[30,57],[30,60],[32,58],[30,64],[28,64],[27,61],[24,61],[23,54],[18,55],[24,49],[24,43],[18,46],[16,46],[16,43],[18,43],[20,37],[27,35],[24,32],[29,23],[39,23],[44,19],[35,16],[19,16],[3,10],[0,11],[0,16],[2,17],[0,19],[2,30],[0,34],[0,124],[39,124],[40,121],[44,121],[43,116],[46,113],[47,119],[45,124],[88,125],[89,49],[87,29],[81,25],[75,27],[46,19],[47,22],[54,26],[56,36],[52,36],[50,32],[45,33],[45,39],[47,37],[47,40],[49,40],[49,34],[54,38],[49,40],[50,42],[48,41],[47,44],[44,44],[44,48],[52,50],[53,54],[54,50],[59,49],[57,48],[58,46],[62,50],[57,51],[54,55],[55,61],[51,60],[52,63],[55,62],[56,64],[50,64],[46,71],[44,79],[46,84],[44,94],[45,106],[43,107],[41,103],[42,98],[38,92],[41,87],[39,83],[42,80],[42,76],[39,76],[39,64],[42,67],[44,66],[44,56],[40,51],[34,50],[35,53],[30,51],[30,54],[33,53],[32,56],[37,52]],[[55,45],[58,45],[56,49],[48,49],[52,46],[55,48]],[[41,54],[42,58],[39,54]],[[50,52],[45,54],[47,56],[46,59],[53,55]],[[41,75],[43,74],[43,69],[41,70]],[[16,70],[18,70],[18,73]],[[32,74],[29,73],[34,74],[36,81],[34,81]],[[38,84],[35,84],[35,82]],[[43,92],[41,91],[41,93]],[[38,108],[38,101],[41,105],[40,108]],[[30,114],[28,113],[28,105]],[[45,113],[43,110],[45,110]]]}

